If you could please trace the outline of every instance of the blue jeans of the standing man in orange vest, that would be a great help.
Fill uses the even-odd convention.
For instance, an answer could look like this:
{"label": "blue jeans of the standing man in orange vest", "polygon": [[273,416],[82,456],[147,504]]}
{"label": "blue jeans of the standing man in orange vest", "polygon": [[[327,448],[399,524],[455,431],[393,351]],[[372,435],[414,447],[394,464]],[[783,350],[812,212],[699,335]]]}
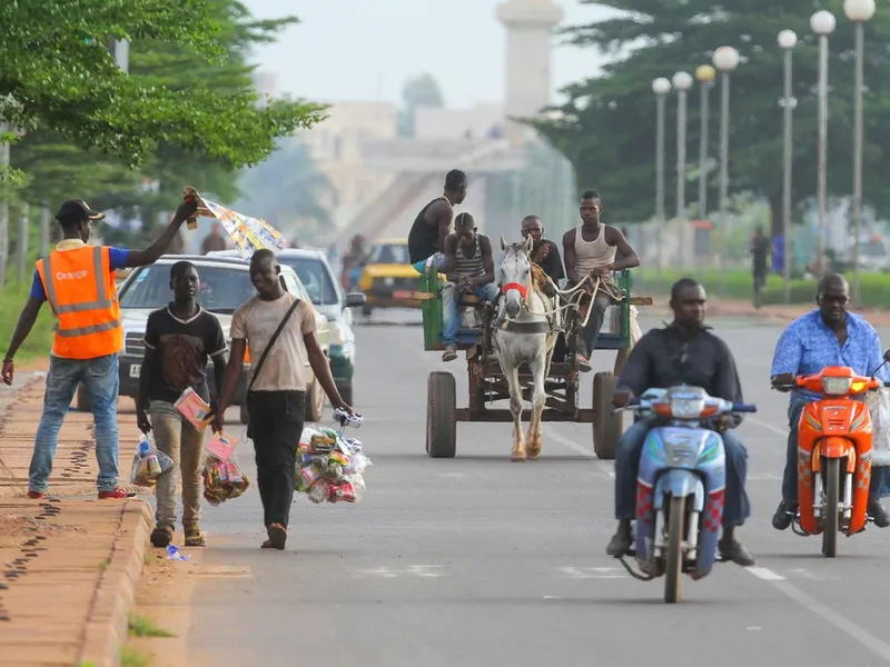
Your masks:
{"label": "blue jeans of the standing man in orange vest", "polygon": [[99,464],[96,484],[100,491],[111,491],[118,486],[118,356],[95,359],[50,357],[43,414],[37,427],[29,470],[29,490],[47,492],[59,431],[80,382],[87,387],[96,422],[96,460]]}

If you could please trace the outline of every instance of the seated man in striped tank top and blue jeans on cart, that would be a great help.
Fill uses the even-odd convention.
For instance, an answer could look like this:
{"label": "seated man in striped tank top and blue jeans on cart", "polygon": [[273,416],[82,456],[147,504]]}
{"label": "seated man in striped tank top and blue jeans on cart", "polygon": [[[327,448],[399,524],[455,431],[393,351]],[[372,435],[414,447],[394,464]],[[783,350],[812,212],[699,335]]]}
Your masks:
{"label": "seated man in striped tank top and blue jeans on cart", "polygon": [[476,230],[469,213],[461,213],[454,221],[454,233],[445,237],[442,271],[448,282],[442,288],[443,361],[457,358],[457,299],[461,293],[475,295],[484,301],[494,301],[497,286],[494,282],[492,241]]}

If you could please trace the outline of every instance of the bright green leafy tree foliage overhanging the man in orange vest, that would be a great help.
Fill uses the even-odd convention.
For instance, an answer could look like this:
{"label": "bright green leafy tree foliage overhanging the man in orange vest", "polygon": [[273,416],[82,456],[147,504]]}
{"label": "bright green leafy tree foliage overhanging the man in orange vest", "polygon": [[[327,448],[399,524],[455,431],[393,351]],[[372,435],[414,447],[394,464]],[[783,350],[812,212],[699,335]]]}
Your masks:
{"label": "bright green leafy tree foliage overhanging the man in orange vest", "polygon": [[[137,166],[160,143],[207,156],[228,167],[263,160],[279,137],[309,127],[323,108],[307,102],[257,106],[251,87],[220,94],[212,81],[169,88],[121,71],[109,39],[169,46],[214,64],[228,54],[229,36],[201,0],[58,0],[0,3],[0,118],[14,127],[52,128],[82,148]],[[246,14],[238,3],[228,3]],[[239,9],[238,9],[239,8]],[[289,19],[294,20],[294,19]],[[268,32],[265,22],[241,32]],[[182,70],[181,74],[188,72]]]}

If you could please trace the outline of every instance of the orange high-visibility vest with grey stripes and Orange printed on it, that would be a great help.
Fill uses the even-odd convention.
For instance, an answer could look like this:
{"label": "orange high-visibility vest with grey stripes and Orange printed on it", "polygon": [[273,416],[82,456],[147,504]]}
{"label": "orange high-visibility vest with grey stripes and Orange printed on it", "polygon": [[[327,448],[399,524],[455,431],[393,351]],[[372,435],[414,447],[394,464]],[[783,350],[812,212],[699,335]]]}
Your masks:
{"label": "orange high-visibility vest with grey stripes and Orange printed on it", "polygon": [[37,262],[37,272],[59,318],[53,355],[95,359],[121,350],[123,329],[108,248],[53,250]]}

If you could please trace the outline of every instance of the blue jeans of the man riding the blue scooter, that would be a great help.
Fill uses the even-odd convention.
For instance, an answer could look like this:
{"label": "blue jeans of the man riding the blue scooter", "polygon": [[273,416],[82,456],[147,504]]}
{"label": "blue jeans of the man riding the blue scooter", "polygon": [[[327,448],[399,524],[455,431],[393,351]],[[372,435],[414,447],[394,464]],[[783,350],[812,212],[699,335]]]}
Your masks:
{"label": "blue jeans of the man riding the blue scooter", "polygon": [[[640,455],[652,422],[641,419],[629,428],[619,440],[615,454],[615,518],[633,520],[636,518],[636,477],[640,470]],[[748,450],[739,437],[728,430],[723,435],[723,449],[726,452],[726,494],[723,504],[723,527],[741,526],[751,516],[751,504],[744,490],[748,477]]]}

